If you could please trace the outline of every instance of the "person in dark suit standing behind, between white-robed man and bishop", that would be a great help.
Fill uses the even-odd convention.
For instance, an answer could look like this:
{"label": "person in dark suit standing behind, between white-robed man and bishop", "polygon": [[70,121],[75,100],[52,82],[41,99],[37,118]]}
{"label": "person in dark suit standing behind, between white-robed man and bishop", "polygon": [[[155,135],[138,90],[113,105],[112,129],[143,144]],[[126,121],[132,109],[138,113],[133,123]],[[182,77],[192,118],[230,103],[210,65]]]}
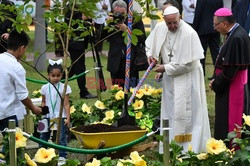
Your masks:
{"label": "person in dark suit standing behind, between white-robed man and bishop", "polygon": [[[204,59],[201,60],[205,75],[206,53],[209,47],[213,65],[215,64],[219,53],[220,34],[214,30],[213,17],[214,12],[223,7],[222,0],[197,0],[193,28],[199,35],[202,47],[204,49]],[[212,79],[212,77],[208,78]]]}

